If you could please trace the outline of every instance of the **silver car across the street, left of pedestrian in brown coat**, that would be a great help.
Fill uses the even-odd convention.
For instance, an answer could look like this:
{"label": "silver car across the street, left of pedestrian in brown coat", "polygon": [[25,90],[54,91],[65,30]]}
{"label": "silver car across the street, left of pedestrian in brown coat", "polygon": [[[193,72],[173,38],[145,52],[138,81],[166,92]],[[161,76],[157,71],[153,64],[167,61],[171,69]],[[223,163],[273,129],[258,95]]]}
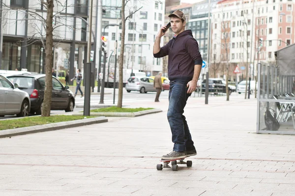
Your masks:
{"label": "silver car across the street, left of pedestrian in brown coat", "polygon": [[129,77],[125,89],[128,93],[131,91],[139,91],[140,93],[156,92],[153,81],[150,77]]}

